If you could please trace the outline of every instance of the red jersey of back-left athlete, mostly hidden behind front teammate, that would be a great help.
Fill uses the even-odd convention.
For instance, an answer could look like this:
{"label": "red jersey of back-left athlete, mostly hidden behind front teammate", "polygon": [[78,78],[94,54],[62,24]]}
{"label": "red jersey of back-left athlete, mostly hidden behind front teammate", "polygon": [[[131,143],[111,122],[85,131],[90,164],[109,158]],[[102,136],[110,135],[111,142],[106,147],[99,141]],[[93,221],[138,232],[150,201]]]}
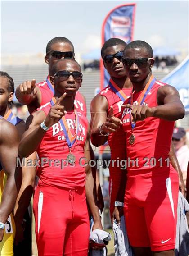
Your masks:
{"label": "red jersey of back-left athlete, mostly hidden behind front teammate", "polygon": [[[47,79],[49,80],[49,76],[47,77]],[[50,80],[49,80],[50,83]],[[45,105],[46,103],[48,103],[53,95],[54,95],[54,91],[52,91],[49,86],[48,83],[45,81],[40,82],[38,84],[36,84],[41,92],[41,106]],[[52,88],[54,89],[54,86],[51,84]],[[83,96],[81,95],[81,93],[79,91],[76,92],[76,98],[74,101],[74,105],[76,107],[76,110],[78,112],[81,112],[82,114],[84,114],[86,116],[87,110],[86,110],[86,104],[84,101]]]}

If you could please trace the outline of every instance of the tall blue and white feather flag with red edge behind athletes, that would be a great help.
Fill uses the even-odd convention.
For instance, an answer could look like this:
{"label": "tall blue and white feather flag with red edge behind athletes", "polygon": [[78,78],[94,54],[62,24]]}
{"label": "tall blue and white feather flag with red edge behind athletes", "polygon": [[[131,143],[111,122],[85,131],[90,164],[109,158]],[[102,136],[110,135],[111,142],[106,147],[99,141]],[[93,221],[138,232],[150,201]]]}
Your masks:
{"label": "tall blue and white feather flag with red edge behind athletes", "polygon": [[[105,41],[112,37],[119,38],[126,43],[133,41],[135,4],[126,4],[117,6],[111,10],[103,22],[102,27],[102,46]],[[101,89],[108,85],[110,76],[103,67],[103,61],[100,63]]]}

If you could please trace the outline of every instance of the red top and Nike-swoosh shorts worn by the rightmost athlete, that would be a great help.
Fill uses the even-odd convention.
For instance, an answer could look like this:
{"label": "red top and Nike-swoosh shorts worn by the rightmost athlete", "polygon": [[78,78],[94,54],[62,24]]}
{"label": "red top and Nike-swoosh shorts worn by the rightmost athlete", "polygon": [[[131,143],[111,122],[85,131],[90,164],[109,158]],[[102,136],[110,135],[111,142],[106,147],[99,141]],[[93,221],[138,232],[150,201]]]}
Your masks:
{"label": "red top and Nike-swoosh shorts worn by the rightmost athlete", "polygon": [[[163,85],[154,82],[143,105],[157,106],[157,90]],[[133,93],[134,105],[142,92]],[[129,102],[126,100],[124,104]],[[129,241],[133,247],[171,250],[175,248],[179,191],[178,174],[169,164],[168,155],[175,122],[148,117],[137,121],[132,131],[129,112],[129,109],[122,111],[128,172],[124,212]],[[130,145],[131,134],[135,136],[133,145]]]}

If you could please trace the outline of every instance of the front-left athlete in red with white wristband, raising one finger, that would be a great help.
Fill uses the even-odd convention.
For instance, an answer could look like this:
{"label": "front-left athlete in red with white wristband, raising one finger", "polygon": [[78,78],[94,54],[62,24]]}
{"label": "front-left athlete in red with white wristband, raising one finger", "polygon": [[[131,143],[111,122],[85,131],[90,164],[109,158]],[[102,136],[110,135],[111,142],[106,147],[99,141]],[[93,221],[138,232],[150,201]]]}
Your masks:
{"label": "front-left athlete in red with white wristband, raising one finger", "polygon": [[37,151],[41,165],[43,157],[50,161],[41,167],[34,196],[39,256],[86,256],[90,231],[86,199],[94,229],[102,225],[92,171],[85,167],[90,160],[88,122],[74,107],[81,68],[74,59],[63,59],[54,64],[53,72],[54,98],[27,119],[18,151],[21,156]]}

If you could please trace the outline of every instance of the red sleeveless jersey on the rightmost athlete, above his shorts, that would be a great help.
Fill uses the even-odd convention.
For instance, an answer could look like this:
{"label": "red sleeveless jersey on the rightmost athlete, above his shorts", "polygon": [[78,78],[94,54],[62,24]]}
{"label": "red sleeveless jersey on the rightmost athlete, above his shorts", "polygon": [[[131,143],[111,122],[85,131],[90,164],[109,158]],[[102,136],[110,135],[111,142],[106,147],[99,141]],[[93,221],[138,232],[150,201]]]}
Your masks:
{"label": "red sleeveless jersey on the rightmost athlete, above his shorts", "polygon": [[[156,81],[148,92],[143,105],[149,107],[157,106],[157,90],[165,83]],[[142,91],[133,94],[133,104],[137,105]],[[124,104],[128,104],[127,99]],[[174,121],[166,121],[156,117],[148,117],[143,121],[137,121],[132,132],[130,122],[130,110],[124,109],[121,112],[123,129],[126,132],[126,155],[127,170],[143,170],[155,167],[167,166],[168,154],[171,147],[171,137],[174,128]],[[129,138],[131,134],[135,135],[135,142],[130,145]],[[129,159],[134,160],[135,164]],[[155,158],[155,159],[154,159]],[[138,163],[136,162],[138,160]]]}

